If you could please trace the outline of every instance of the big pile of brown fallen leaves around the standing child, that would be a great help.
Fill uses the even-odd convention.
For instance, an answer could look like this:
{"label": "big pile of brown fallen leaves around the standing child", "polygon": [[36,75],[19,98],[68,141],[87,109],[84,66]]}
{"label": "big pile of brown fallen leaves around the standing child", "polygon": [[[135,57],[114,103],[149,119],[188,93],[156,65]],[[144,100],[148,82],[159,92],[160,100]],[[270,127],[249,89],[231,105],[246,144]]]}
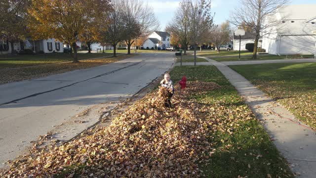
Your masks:
{"label": "big pile of brown fallen leaves around the standing child", "polygon": [[[193,96],[219,89],[215,83],[175,86],[173,108],[164,107],[163,88],[147,94],[107,128],[11,163],[10,177],[199,177],[199,163],[214,151],[212,133],[234,134],[236,121],[255,119],[250,110],[197,103]],[[157,92],[159,94],[157,94]],[[215,114],[220,113],[220,114]],[[236,117],[233,117],[236,116]]]}

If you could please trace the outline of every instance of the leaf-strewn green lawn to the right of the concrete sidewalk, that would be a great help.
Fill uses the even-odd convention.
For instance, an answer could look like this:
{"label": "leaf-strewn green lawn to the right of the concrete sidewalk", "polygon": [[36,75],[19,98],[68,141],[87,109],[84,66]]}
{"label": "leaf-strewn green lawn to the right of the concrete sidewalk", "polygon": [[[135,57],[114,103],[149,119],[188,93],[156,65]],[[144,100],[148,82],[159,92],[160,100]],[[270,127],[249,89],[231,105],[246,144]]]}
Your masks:
{"label": "leaf-strewn green lawn to the right of the concrete sidewalk", "polygon": [[316,63],[230,67],[316,129]]}

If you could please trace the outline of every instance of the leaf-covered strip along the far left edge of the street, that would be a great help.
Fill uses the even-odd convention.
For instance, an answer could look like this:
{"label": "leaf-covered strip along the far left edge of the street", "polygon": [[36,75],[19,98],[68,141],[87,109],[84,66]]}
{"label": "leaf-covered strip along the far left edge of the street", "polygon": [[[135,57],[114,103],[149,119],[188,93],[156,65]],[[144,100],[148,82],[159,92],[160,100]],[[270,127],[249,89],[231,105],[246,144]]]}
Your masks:
{"label": "leaf-covered strip along the far left edge of the street", "polygon": [[67,63],[56,63],[40,66],[22,67],[22,68],[6,68],[0,69],[0,85],[17,82],[21,80],[30,80],[40,77],[49,76],[52,74],[64,73],[72,70],[85,69],[104,65],[112,62],[116,62],[121,59],[125,59],[127,55],[119,55],[118,57],[105,57],[100,59],[82,60],[78,63],[67,62]]}

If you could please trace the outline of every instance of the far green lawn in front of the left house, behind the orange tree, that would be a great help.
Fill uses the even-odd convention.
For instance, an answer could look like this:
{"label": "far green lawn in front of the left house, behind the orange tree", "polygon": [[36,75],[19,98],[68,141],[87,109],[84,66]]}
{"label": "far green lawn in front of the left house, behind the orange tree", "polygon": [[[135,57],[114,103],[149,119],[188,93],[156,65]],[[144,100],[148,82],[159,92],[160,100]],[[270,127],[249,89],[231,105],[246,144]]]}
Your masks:
{"label": "far green lawn in front of the left house, behind the orange tree", "polygon": [[[112,53],[78,53],[78,59],[80,60],[111,55]],[[0,69],[52,64],[72,60],[72,55],[66,53],[0,55]]]}

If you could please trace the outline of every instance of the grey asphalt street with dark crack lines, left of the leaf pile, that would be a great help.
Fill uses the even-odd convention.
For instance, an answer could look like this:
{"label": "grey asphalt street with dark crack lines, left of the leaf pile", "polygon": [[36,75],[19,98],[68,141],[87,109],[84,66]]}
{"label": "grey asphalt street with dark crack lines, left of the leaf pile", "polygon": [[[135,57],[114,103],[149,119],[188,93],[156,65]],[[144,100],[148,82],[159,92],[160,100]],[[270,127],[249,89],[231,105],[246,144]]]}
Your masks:
{"label": "grey asphalt street with dark crack lines, left of the leaf pile", "polygon": [[173,62],[173,52],[139,53],[104,66],[0,85],[0,163],[85,109],[132,96]]}

